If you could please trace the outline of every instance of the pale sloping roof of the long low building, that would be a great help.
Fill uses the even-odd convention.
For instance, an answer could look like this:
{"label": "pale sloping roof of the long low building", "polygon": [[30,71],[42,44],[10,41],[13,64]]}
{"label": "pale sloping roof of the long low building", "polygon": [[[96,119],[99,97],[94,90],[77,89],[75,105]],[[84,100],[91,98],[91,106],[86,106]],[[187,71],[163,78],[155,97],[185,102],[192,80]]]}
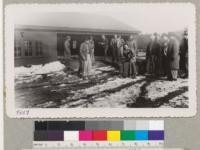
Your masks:
{"label": "pale sloping roof of the long low building", "polygon": [[112,17],[78,12],[25,14],[16,17],[15,25],[27,29],[139,33],[139,30]]}

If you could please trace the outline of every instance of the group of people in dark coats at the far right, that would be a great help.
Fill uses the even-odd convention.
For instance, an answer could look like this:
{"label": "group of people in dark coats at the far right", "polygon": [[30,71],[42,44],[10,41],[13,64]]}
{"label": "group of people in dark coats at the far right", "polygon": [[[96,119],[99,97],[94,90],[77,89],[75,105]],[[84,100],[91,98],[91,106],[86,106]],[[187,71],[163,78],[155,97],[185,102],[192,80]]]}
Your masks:
{"label": "group of people in dark coats at the far right", "polygon": [[181,42],[174,35],[155,33],[146,49],[147,74],[154,77],[167,76],[169,80],[188,77],[187,31]]}

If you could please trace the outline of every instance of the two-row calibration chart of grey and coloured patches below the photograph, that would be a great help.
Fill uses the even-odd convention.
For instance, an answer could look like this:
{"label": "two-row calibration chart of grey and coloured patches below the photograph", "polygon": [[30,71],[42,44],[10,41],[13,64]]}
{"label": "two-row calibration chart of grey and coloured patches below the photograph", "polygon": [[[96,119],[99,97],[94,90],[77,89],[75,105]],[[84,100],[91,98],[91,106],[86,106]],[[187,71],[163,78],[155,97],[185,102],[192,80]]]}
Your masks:
{"label": "two-row calibration chart of grey and coloured patches below the photograph", "polygon": [[34,141],[158,141],[164,121],[45,121],[35,122]]}

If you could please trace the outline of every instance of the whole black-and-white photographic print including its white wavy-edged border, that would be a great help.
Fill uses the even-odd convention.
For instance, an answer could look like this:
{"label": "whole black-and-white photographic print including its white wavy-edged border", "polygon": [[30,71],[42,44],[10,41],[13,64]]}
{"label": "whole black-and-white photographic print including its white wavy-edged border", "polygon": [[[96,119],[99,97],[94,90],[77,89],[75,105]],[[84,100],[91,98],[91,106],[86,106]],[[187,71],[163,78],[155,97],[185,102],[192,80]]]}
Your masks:
{"label": "whole black-and-white photographic print including its white wavy-edged border", "polygon": [[13,5],[6,15],[11,116],[196,112],[192,4]]}

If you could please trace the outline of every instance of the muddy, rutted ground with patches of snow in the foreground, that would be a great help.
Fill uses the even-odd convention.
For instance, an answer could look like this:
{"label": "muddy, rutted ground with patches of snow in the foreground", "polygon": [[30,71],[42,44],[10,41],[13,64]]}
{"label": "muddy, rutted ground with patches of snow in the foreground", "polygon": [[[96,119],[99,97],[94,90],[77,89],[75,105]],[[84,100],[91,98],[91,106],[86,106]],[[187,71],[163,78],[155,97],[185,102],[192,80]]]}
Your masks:
{"label": "muddy, rutted ground with patches of snow in the foreground", "polygon": [[46,69],[45,74],[26,68],[25,73],[19,73],[15,77],[16,107],[188,107],[187,79],[167,81],[143,75],[136,79],[119,78],[116,69],[102,61],[93,66],[94,76],[89,80],[79,78],[77,70],[58,68],[58,71]]}

